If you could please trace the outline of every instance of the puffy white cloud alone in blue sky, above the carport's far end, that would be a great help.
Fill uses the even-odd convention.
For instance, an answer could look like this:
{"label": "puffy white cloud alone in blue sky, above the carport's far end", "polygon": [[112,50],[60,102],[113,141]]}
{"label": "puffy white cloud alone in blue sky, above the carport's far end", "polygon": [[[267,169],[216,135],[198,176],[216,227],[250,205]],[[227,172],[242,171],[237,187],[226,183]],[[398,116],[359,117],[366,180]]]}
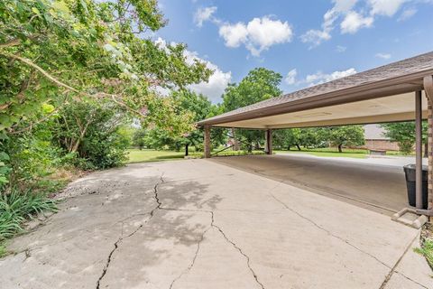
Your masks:
{"label": "puffy white cloud alone in blue sky, above the carport's far end", "polygon": [[224,38],[227,47],[244,44],[253,56],[260,56],[262,51],[268,50],[272,45],[290,42],[293,32],[289,23],[264,16],[254,18],[246,24],[223,24],[219,28],[219,35]]}

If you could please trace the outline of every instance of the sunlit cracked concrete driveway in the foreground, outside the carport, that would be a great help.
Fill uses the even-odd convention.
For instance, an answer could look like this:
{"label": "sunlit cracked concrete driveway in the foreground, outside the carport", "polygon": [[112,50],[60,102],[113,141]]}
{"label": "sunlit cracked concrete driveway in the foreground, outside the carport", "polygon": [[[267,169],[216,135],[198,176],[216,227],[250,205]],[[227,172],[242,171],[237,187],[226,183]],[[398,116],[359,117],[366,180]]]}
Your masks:
{"label": "sunlit cracked concrete driveway in the foreground, outside the carport", "polygon": [[[239,158],[236,158],[239,159]],[[72,183],[15,238],[0,288],[431,288],[419,231],[207,160]]]}

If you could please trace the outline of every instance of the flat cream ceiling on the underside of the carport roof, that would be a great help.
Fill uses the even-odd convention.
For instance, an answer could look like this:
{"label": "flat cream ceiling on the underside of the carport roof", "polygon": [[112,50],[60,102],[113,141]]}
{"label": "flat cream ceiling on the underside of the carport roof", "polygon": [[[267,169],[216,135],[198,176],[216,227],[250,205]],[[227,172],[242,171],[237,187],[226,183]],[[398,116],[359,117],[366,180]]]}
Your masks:
{"label": "flat cream ceiling on the underside of the carport roof", "polygon": [[[427,98],[422,92],[423,117],[427,117]],[[338,126],[411,120],[415,118],[415,93],[386,98],[319,107],[271,117],[218,124],[226,127],[283,128],[306,126]]]}

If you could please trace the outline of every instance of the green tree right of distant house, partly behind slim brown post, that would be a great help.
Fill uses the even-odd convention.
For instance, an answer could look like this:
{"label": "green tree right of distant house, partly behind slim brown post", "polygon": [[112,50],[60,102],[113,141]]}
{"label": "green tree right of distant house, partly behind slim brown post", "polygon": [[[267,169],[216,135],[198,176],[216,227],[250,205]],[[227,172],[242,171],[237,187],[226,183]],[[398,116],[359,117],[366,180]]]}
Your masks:
{"label": "green tree right of distant house, partly behind slim brown post", "polygon": [[[413,150],[413,145],[416,141],[415,135],[415,122],[399,122],[399,123],[388,123],[381,125],[385,129],[384,135],[389,137],[393,142],[399,144],[401,153],[410,154]],[[424,154],[427,156],[427,122],[422,122],[422,143],[424,146]]]}

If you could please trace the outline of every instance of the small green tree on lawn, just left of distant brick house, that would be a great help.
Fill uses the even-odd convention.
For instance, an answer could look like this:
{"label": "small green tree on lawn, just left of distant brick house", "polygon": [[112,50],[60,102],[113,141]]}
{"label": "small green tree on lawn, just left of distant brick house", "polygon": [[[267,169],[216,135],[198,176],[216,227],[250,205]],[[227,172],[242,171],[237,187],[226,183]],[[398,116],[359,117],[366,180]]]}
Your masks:
{"label": "small green tree on lawn, just left of distant brick house", "polygon": [[365,144],[363,126],[331,126],[322,131],[322,137],[327,138],[332,145],[343,152],[343,146]]}

